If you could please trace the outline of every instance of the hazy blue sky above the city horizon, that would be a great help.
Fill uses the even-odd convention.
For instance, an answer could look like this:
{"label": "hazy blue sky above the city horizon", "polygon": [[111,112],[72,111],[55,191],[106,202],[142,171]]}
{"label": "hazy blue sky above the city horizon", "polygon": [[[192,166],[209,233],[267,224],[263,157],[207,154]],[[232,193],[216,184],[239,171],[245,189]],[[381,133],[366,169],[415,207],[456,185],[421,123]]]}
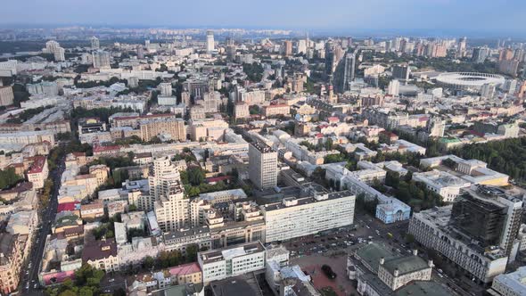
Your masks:
{"label": "hazy blue sky above the city horizon", "polygon": [[429,31],[526,37],[525,0],[1,0],[6,24]]}

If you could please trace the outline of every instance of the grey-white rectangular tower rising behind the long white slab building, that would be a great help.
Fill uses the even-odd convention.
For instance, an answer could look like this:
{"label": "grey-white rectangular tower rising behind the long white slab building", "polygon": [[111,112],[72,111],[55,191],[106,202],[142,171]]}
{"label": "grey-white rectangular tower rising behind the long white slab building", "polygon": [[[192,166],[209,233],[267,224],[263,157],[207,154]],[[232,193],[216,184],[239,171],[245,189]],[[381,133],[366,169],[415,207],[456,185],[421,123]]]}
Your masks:
{"label": "grey-white rectangular tower rising behind the long white slab building", "polygon": [[249,145],[249,177],[258,189],[275,187],[277,182],[277,152],[261,142]]}

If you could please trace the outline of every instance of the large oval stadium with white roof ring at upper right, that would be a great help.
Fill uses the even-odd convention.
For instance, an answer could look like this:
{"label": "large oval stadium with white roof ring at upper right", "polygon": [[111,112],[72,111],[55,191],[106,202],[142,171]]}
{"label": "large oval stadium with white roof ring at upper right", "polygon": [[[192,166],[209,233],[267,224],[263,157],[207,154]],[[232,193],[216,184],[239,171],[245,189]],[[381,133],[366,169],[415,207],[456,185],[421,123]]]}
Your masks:
{"label": "large oval stadium with white roof ring at upper right", "polygon": [[436,79],[440,86],[472,92],[480,92],[481,87],[489,83],[502,85],[505,80],[501,75],[476,72],[441,73]]}

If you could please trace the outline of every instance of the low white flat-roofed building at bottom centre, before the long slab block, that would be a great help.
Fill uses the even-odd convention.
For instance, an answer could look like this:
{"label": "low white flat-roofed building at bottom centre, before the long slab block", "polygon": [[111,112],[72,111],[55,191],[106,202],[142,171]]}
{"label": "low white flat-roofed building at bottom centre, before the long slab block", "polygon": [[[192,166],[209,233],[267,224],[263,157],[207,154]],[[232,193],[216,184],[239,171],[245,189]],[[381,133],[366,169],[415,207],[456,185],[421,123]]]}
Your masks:
{"label": "low white flat-roofed building at bottom centre, before the long slab block", "polygon": [[208,284],[264,269],[266,253],[267,250],[259,242],[244,243],[214,251],[201,251],[197,253],[197,261],[202,270],[202,282]]}

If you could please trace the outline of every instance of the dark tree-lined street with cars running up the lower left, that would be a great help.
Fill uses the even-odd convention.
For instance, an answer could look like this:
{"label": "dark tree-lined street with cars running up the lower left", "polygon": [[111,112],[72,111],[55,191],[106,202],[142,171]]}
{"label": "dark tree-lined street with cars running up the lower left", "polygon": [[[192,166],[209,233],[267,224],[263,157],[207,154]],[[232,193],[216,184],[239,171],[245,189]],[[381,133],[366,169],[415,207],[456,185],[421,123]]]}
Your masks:
{"label": "dark tree-lined street with cars running up the lower left", "polygon": [[[53,179],[53,194],[49,199],[49,206],[40,212],[41,228],[35,238],[29,264],[26,266],[26,273],[23,273],[21,280],[22,294],[38,295],[42,291],[38,289],[38,271],[44,254],[45,238],[51,234],[51,226],[57,212],[59,188],[61,186],[62,172],[64,171],[64,159],[60,160],[58,168],[49,173]],[[37,287],[36,287],[37,285]]]}

